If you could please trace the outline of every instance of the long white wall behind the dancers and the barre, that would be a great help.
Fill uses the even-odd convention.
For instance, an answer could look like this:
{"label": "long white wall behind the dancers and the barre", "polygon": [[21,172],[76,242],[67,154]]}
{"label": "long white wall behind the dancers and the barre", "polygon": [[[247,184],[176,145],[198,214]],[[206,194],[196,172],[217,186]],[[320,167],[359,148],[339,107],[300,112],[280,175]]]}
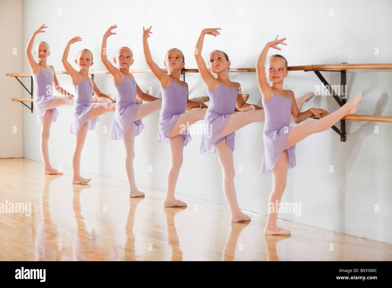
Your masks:
{"label": "long white wall behind the dancers and the barre", "polygon": [[[131,4],[132,3],[132,4]],[[59,10],[61,9],[61,10]],[[332,10],[331,10],[332,9]],[[61,15],[59,15],[61,11]],[[117,35],[108,41],[108,53],[122,46],[134,52],[134,69],[147,69],[142,52],[142,27],[152,25],[149,44],[153,59],[162,64],[167,49],[177,47],[185,54],[187,68],[195,68],[193,48],[201,29],[222,28],[221,36],[206,36],[202,55],[213,49],[225,51],[232,67],[254,67],[265,43],[276,34],[287,38],[282,53],[289,66],[328,63],[391,63],[392,39],[390,1],[24,1],[23,47],[40,25],[48,26],[36,41],[46,40],[51,47],[49,64],[64,70],[61,56],[69,39],[81,36],[72,45],[69,60],[77,51],[89,48],[94,53],[93,69],[103,70],[99,60],[102,35],[117,24]],[[375,48],[379,54],[375,55]],[[276,53],[276,51],[270,51]],[[23,72],[29,72],[23,59]],[[322,72],[331,84],[339,84],[340,75]],[[152,74],[134,74],[142,89],[152,87],[160,96],[158,81]],[[348,95],[365,92],[359,114],[392,116],[392,93],[388,71],[348,71]],[[69,85],[69,76],[58,76]],[[232,73],[232,81],[240,82],[250,103],[260,101],[254,73]],[[98,75],[96,83],[103,92],[114,95],[109,75]],[[197,73],[188,73],[190,96],[205,95],[205,85]],[[314,91],[319,85],[313,72],[293,71],[285,80],[285,89],[296,96]],[[18,91],[15,96],[20,96]],[[26,93],[24,93],[26,96]],[[331,112],[339,106],[327,96],[316,96],[303,109],[320,107]],[[74,136],[69,134],[71,107],[60,107],[53,123],[49,148],[51,163],[71,167]],[[135,176],[140,185],[165,190],[169,167],[166,143],[156,141],[159,113],[145,118],[145,130],[136,137]],[[111,140],[113,113],[100,117],[96,129],[88,133],[82,152],[81,170],[126,181],[123,168],[123,144]],[[307,120],[316,121],[316,120]],[[39,150],[40,125],[35,113],[23,109],[24,157],[42,161]],[[295,125],[292,123],[292,125]],[[104,126],[108,133],[103,133]],[[263,159],[263,123],[252,123],[236,132],[234,165],[235,185],[241,208],[267,214],[267,199],[272,175],[260,173]],[[374,133],[378,126],[379,133]],[[287,189],[282,201],[300,202],[302,215],[280,214],[284,219],[338,232],[392,243],[392,203],[390,174],[392,125],[375,122],[347,122],[347,141],[332,129],[313,134],[296,146],[297,166],[289,170]],[[226,204],[222,192],[221,170],[216,154],[198,153],[200,135],[193,135],[184,149],[184,162],[176,192],[179,194]],[[148,172],[152,165],[153,172]],[[242,165],[243,172],[238,172]],[[330,171],[333,165],[334,172]],[[92,181],[94,185],[94,179]],[[98,185],[98,183],[96,183]],[[379,212],[374,211],[379,205]]]}

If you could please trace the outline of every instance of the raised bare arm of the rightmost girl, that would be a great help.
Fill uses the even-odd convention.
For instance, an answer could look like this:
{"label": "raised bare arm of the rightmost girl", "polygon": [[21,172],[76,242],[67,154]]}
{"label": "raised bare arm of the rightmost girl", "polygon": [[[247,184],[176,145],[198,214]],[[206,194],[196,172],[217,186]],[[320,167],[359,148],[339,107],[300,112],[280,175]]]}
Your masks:
{"label": "raised bare arm of the rightmost girl", "polygon": [[[279,36],[279,35],[278,35]],[[285,43],[283,43],[284,40],[286,40],[286,38],[282,38],[278,40],[278,36],[276,36],[276,39],[274,41],[268,42],[263,51],[261,51],[261,54],[256,62],[256,77],[257,77],[257,82],[259,84],[259,89],[261,92],[261,97],[263,98],[263,100],[268,101],[270,100],[270,98],[272,97],[273,91],[272,88],[268,85],[267,83],[267,79],[265,79],[265,70],[264,70],[264,64],[265,64],[265,58],[267,57],[267,53],[268,53],[268,49],[270,47],[277,49],[277,50],[281,50],[279,47],[277,47],[276,45],[278,44],[283,44],[283,45],[287,45]]]}

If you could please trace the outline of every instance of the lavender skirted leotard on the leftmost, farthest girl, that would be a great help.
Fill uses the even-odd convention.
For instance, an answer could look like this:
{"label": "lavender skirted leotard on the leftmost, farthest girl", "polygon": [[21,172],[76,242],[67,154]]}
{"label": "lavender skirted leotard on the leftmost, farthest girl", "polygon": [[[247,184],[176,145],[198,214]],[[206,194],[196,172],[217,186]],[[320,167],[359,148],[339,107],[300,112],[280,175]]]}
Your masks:
{"label": "lavender skirted leotard on the leftmost, farthest girl", "polygon": [[[32,73],[31,76],[34,82],[34,107],[37,111],[37,124],[40,124],[46,110],[55,97],[53,96],[54,72],[52,67],[49,72],[40,67],[40,71],[37,74]],[[53,112],[52,121],[54,122],[57,119],[58,112],[56,108],[52,108],[51,110]]]}

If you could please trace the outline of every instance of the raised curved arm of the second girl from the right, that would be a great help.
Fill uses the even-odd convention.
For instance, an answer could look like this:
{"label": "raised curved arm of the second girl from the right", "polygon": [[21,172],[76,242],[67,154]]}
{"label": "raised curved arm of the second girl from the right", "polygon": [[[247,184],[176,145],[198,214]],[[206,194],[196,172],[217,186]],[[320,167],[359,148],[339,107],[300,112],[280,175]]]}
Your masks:
{"label": "raised curved arm of the second girl from the right", "polygon": [[207,85],[207,88],[210,90],[216,89],[216,84],[218,84],[218,81],[215,79],[214,76],[212,76],[211,72],[207,69],[204,59],[203,57],[201,57],[201,49],[203,49],[204,35],[209,34],[216,37],[220,35],[218,30],[221,29],[220,28],[203,29],[200,33],[199,39],[197,40],[195,51],[194,51],[196,64],[199,69],[201,79],[203,79],[204,83]]}

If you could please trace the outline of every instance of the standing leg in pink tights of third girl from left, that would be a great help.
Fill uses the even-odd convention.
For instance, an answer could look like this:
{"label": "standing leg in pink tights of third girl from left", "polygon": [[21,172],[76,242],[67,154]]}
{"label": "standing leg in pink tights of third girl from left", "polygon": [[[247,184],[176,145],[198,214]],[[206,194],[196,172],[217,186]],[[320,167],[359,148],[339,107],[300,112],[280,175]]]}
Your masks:
{"label": "standing leg in pink tights of third girl from left", "polygon": [[125,171],[127,172],[128,183],[129,183],[129,197],[140,197],[144,196],[143,192],[138,190],[135,182],[135,175],[133,169],[133,159],[135,158],[135,132],[133,129],[133,125],[128,129],[127,133],[123,136],[124,143],[124,156],[125,156]]}

